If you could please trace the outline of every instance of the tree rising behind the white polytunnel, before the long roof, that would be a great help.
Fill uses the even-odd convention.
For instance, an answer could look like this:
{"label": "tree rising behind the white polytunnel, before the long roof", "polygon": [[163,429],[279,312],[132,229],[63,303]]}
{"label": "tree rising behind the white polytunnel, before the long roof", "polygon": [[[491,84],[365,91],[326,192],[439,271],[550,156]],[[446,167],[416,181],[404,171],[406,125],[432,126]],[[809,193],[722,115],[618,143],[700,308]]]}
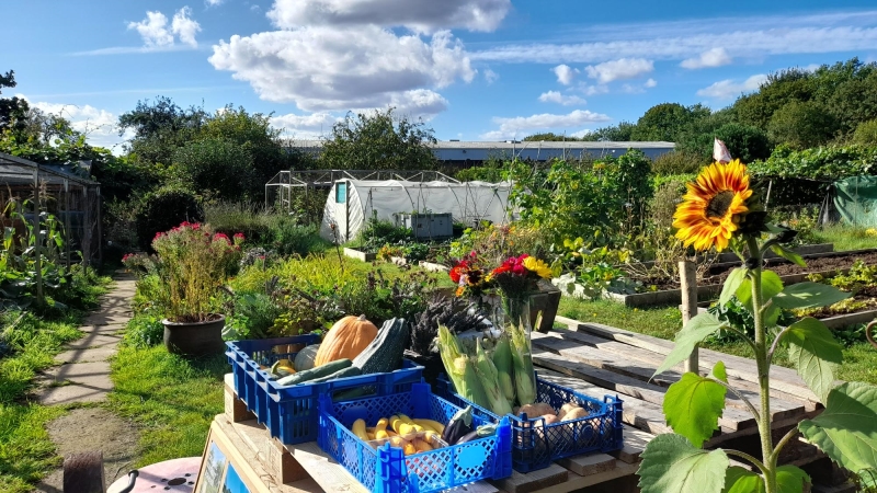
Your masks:
{"label": "tree rising behind the white polytunnel, before the long roof", "polygon": [[423,121],[397,117],[394,108],[371,114],[348,113],[332,126],[319,165],[339,170],[429,170],[436,165],[430,148],[433,129]]}

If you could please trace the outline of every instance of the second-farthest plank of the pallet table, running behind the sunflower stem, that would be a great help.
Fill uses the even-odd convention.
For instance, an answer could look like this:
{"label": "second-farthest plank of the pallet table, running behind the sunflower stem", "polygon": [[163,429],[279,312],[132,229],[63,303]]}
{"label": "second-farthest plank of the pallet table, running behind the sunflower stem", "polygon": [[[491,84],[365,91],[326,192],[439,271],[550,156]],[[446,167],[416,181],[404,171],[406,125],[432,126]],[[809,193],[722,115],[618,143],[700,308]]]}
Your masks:
{"label": "second-farthest plank of the pallet table, running behind the sunflower stem", "polygon": [[[651,351],[642,349],[640,347],[635,347],[613,340],[603,339],[596,335],[591,335],[584,332],[554,331],[549,335],[580,342],[585,346],[600,349],[599,354],[605,355],[605,353],[610,353],[612,355],[617,355],[625,362],[630,362],[634,359],[634,363],[641,362],[647,364],[646,368],[643,368],[642,365],[628,364],[627,367],[622,368],[618,371],[616,371],[615,368],[607,368],[616,372],[624,372],[630,377],[638,378],[643,381],[651,381],[659,386],[670,386],[682,378],[682,364],[676,365],[673,367],[673,369],[664,371],[656,378],[652,378],[654,369],[657,369],[663,362],[663,355],[652,353]],[[534,336],[534,339],[538,337],[538,335]],[[593,365],[591,362],[584,363]],[[709,375],[711,368],[702,368],[703,370],[701,371],[701,375]],[[743,397],[749,399],[749,402],[751,402],[756,410],[761,411],[761,395],[759,393],[759,386],[756,383],[733,376],[728,377],[728,383],[732,388],[737,389]],[[808,405],[805,405],[805,402],[807,402],[810,409],[808,409]],[[749,412],[749,409],[743,401],[730,392],[728,393],[727,405]],[[776,390],[771,392],[771,416],[774,420],[783,420],[786,417],[801,415],[804,412],[812,411],[813,409],[815,404],[809,401],[804,401],[800,398],[788,395]]]}

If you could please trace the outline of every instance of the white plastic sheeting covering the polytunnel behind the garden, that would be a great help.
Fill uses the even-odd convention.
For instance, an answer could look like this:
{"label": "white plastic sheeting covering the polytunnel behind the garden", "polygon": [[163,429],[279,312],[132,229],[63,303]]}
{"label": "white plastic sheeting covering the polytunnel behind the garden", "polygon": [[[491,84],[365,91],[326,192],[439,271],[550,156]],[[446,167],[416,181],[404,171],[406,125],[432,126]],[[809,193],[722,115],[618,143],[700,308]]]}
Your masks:
{"label": "white plastic sheeting covering the polytunnel behind the garden", "polygon": [[[395,222],[398,213],[451,213],[455,221],[510,220],[510,183],[402,182],[341,180],[332,185],[323,207],[320,236],[345,242],[373,217]],[[333,229],[334,227],[334,229]]]}

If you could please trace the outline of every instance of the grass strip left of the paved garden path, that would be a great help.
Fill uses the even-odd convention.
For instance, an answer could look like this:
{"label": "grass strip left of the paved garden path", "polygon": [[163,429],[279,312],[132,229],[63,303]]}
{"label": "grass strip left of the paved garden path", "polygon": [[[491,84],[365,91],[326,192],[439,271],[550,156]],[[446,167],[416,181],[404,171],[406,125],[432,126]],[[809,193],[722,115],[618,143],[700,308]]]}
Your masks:
{"label": "grass strip left of the paved garden path", "polygon": [[89,274],[78,277],[64,299],[66,303],[75,301],[76,308],[44,309],[39,316],[29,312],[21,319],[18,312],[0,314],[2,331],[14,323],[7,334],[13,352],[0,359],[0,492],[30,492],[46,472],[58,466],[60,458],[46,433],[46,424],[65,410],[27,402],[26,394],[36,372],[55,364],[54,356],[64,343],[82,336],[79,322],[83,312],[77,308],[95,306],[107,284],[109,278]]}

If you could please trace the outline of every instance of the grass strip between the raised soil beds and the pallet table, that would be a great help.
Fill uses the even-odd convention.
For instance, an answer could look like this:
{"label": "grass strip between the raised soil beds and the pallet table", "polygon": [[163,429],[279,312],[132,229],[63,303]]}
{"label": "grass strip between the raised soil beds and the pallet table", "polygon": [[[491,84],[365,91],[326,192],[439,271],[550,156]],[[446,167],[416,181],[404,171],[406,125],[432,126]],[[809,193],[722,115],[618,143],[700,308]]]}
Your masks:
{"label": "grass strip between the raised soil beds and the pallet table", "polygon": [[[603,323],[667,340],[673,340],[682,328],[682,316],[676,306],[627,308],[613,301],[562,298],[558,313],[582,322]],[[752,357],[752,349],[743,342],[707,341],[703,346],[737,356]],[[844,363],[838,372],[838,378],[877,385],[877,349],[867,342],[858,342],[844,348],[843,357]],[[774,355],[774,364],[791,366],[783,352]]]}

